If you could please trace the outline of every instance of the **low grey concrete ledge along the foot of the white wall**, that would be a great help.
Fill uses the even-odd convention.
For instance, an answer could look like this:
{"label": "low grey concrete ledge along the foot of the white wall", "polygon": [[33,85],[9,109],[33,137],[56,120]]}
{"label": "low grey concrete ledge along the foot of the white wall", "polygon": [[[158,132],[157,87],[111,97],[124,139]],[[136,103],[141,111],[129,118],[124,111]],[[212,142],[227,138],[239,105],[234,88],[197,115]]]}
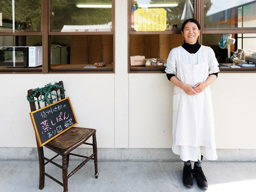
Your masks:
{"label": "low grey concrete ledge along the foot of the white wall", "polygon": [[[91,148],[77,148],[74,153],[88,155]],[[52,151],[45,148],[45,156]],[[256,149],[217,149],[217,162],[256,162]],[[78,159],[76,156],[70,157]],[[38,160],[37,148],[0,147],[0,160]],[[180,161],[170,148],[98,148],[99,161]],[[207,160],[205,160],[207,161]]]}

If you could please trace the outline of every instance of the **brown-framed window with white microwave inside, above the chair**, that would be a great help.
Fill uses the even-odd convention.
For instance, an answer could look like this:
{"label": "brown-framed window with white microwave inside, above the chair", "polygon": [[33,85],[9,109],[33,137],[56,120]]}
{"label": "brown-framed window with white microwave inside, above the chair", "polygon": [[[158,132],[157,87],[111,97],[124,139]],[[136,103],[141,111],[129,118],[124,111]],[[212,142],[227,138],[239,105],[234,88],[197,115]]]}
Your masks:
{"label": "brown-framed window with white microwave inside, above the chair", "polygon": [[0,72],[114,72],[114,0],[2,0],[0,18]]}

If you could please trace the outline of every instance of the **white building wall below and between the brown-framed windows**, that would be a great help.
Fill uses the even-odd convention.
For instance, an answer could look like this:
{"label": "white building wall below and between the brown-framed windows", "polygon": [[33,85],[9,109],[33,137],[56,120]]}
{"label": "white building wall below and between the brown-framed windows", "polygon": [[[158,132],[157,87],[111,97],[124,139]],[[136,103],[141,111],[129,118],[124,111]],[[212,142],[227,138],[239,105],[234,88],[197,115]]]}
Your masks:
{"label": "white building wall below and between the brown-framed windows", "polygon": [[[99,148],[170,148],[173,85],[127,73],[127,2],[116,0],[115,74],[0,74],[0,147],[35,147],[27,90],[63,80],[78,126]],[[220,73],[212,84],[219,149],[256,149],[256,74]]]}

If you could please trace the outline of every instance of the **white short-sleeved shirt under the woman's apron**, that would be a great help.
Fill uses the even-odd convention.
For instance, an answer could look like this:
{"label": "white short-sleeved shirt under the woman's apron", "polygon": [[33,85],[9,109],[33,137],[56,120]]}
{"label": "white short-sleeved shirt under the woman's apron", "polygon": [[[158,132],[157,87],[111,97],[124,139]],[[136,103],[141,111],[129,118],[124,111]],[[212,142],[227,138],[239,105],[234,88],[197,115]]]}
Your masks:
{"label": "white short-sleeved shirt under the woman's apron", "polygon": [[[191,64],[191,65],[197,65],[198,63],[207,62],[209,64],[209,75],[219,72],[220,71],[218,68],[219,64],[212,48],[204,46],[206,49],[203,49],[202,47],[203,45],[201,45],[200,49],[196,53],[189,53],[183,47],[181,47],[182,62]],[[206,50],[207,52],[205,53],[204,50]],[[204,61],[204,54],[208,55],[208,61]],[[178,60],[178,50],[177,48],[173,48],[170,51],[167,59],[167,65],[165,69],[166,73],[176,75],[177,60]]]}

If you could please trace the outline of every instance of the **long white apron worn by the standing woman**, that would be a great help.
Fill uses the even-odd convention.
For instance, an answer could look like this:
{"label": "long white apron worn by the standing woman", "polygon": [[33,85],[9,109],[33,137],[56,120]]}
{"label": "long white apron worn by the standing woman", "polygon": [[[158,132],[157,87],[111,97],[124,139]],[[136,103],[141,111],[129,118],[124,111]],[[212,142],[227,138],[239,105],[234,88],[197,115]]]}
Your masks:
{"label": "long white apron worn by the standing woman", "polygon": [[[204,49],[204,62],[192,65],[182,62],[182,47],[178,47],[176,77],[181,82],[194,86],[208,78],[208,52],[201,48]],[[172,122],[172,151],[180,155],[183,161],[201,160],[201,154],[209,160],[217,159],[210,86],[196,95],[187,95],[175,86]]]}

